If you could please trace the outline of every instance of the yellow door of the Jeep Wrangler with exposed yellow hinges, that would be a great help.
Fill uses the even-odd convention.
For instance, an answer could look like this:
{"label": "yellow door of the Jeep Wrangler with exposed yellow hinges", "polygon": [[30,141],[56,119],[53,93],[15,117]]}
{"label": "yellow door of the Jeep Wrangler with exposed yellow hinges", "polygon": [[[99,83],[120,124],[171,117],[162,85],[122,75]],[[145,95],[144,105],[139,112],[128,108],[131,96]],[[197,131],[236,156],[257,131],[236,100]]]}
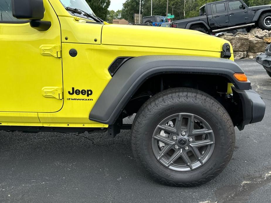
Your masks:
{"label": "yellow door of the Jeep Wrangler with exposed yellow hinges", "polygon": [[44,8],[43,20],[52,25],[39,31],[12,16],[11,0],[0,1],[2,112],[56,112],[62,108],[60,24],[48,1]]}

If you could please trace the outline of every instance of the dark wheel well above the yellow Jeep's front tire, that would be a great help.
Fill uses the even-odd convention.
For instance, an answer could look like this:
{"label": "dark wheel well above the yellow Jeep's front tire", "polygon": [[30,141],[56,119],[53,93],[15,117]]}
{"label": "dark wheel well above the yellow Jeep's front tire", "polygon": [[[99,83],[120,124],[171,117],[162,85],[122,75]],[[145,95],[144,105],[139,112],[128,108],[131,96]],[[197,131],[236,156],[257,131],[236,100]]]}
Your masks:
{"label": "dark wheel well above the yellow Jeep's front tire", "polygon": [[[236,107],[227,95],[229,79],[219,75],[202,74],[163,74],[147,79],[135,92],[124,108],[122,117],[137,113],[140,107],[153,95],[175,87],[190,87],[201,90],[220,102],[230,114],[233,123],[236,117]],[[235,111],[235,112],[234,112]]]}

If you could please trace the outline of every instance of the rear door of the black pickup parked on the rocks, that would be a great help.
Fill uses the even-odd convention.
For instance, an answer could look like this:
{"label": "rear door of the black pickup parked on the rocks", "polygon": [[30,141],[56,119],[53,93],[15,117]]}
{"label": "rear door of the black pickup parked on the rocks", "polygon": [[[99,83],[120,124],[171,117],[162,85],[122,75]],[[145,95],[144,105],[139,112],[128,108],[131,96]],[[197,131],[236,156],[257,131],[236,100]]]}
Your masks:
{"label": "rear door of the black pickup parked on the rocks", "polygon": [[212,4],[213,27],[223,27],[229,25],[229,15],[225,2]]}

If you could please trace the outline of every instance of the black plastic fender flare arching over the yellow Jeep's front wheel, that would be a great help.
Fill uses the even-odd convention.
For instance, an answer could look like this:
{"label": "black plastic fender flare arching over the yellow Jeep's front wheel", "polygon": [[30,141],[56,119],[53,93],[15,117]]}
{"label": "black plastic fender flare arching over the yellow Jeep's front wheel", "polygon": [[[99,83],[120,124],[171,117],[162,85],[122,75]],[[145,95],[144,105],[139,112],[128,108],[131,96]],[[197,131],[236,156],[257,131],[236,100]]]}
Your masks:
{"label": "black plastic fender flare arching over the yellow Jeep's front wheel", "polygon": [[197,56],[139,56],[120,66],[93,106],[89,119],[112,125],[133,94],[148,78],[167,73],[221,75],[239,90],[249,90],[250,81],[239,82],[233,74],[243,70],[229,59]]}

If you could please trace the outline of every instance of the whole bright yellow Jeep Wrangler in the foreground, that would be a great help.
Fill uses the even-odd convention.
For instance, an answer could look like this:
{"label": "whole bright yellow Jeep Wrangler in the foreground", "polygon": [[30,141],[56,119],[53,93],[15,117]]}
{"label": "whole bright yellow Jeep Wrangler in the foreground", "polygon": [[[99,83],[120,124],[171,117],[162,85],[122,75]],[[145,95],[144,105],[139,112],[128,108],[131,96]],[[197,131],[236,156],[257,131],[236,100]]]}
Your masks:
{"label": "whole bright yellow Jeep Wrangler in the foreground", "polygon": [[154,178],[193,186],[228,164],[235,126],[263,119],[265,104],[223,39],[111,25],[85,0],[0,6],[0,130],[113,138],[131,129],[134,156]]}

